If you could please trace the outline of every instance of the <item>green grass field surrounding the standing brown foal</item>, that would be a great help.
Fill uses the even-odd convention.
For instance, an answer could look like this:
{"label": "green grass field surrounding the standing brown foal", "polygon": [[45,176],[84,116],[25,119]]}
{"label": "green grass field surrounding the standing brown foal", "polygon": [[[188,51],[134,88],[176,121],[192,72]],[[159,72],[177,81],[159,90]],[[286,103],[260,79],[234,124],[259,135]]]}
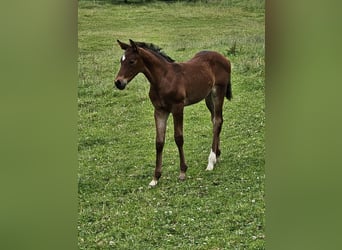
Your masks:
{"label": "green grass field surrounding the standing brown foal", "polygon": [[[78,10],[78,244],[80,249],[264,249],[264,1],[98,4]],[[153,42],[176,61],[215,50],[232,62],[221,160],[205,171],[209,111],[185,109],[187,179],[169,119],[163,175],[155,163],[149,84],[138,75],[124,91],[113,79],[123,52],[116,39]],[[234,48],[234,44],[236,47]]]}

